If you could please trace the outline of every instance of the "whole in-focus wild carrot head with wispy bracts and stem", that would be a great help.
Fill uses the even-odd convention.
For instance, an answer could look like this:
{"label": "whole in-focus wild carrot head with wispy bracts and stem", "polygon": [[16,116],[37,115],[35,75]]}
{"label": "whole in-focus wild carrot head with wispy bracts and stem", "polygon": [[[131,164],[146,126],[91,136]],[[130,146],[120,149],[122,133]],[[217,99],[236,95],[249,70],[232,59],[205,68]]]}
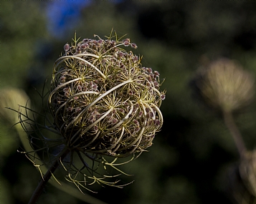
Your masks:
{"label": "whole in-focus wild carrot head with wispy bracts and stem", "polygon": [[[113,31],[106,39],[95,37],[80,42],[75,37],[65,44],[54,63],[47,110],[38,114],[44,124],[35,119],[37,112],[30,110],[30,117],[27,107],[19,112],[20,123],[39,156],[24,153],[39,170],[41,165],[35,163],[39,157],[48,167],[30,203],[37,200],[58,167],[81,192],[94,183],[123,188],[126,184],[110,179],[128,175],[119,166],[146,151],[163,125],[159,107],[165,91],[159,90],[159,73],[142,67],[142,57],[125,51],[125,47],[137,48],[130,39],[118,38]],[[44,130],[56,137],[47,137]],[[124,157],[128,158],[118,162]],[[117,173],[110,174],[109,168]]]}

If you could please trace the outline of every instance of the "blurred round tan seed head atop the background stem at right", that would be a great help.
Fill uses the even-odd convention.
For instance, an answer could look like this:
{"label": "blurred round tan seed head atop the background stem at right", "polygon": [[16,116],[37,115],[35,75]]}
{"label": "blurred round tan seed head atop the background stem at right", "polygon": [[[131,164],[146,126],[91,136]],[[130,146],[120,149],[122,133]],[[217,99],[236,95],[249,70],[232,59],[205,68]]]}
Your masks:
{"label": "blurred round tan seed head atop the background stem at right", "polygon": [[208,105],[225,112],[240,110],[254,96],[252,75],[229,59],[219,59],[200,70],[196,85]]}

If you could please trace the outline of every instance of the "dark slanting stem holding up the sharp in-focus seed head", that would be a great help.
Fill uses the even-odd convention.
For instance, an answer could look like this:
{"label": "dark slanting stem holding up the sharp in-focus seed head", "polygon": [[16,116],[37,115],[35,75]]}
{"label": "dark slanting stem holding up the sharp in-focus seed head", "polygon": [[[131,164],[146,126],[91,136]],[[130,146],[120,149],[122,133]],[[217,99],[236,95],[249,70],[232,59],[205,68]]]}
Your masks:
{"label": "dark slanting stem holding up the sharp in-focus seed head", "polygon": [[51,167],[49,167],[49,170],[47,173],[44,175],[43,178],[41,178],[40,183],[37,185],[37,188],[34,190],[34,193],[32,197],[29,200],[28,204],[34,204],[37,202],[39,199],[42,191],[44,190],[45,185],[47,184],[48,180],[51,178],[52,174],[54,171],[57,169],[59,166],[59,159],[62,157],[62,159],[68,154],[69,150],[65,150],[65,152],[62,152],[59,157],[55,160],[55,162],[52,164]]}

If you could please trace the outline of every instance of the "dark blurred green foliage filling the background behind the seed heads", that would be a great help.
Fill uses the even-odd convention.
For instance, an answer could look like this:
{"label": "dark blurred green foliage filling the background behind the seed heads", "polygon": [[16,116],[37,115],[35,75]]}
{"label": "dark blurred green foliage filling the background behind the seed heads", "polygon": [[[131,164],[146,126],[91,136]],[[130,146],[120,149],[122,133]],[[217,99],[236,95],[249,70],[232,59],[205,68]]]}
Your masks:
{"label": "dark blurred green foliage filling the background behind the seed heads", "polygon": [[[65,43],[108,35],[114,28],[136,42],[142,63],[166,81],[163,129],[149,152],[125,166],[135,182],[88,194],[106,203],[231,203],[227,170],[239,157],[221,117],[196,101],[189,85],[196,69],[218,57],[256,73],[254,1],[92,1],[76,28],[57,39],[47,31],[51,1],[1,1],[1,88],[24,89],[40,108],[37,89],[52,74]],[[60,2],[61,4],[61,2]],[[47,84],[49,86],[49,84]],[[16,107],[13,107],[16,109]],[[2,116],[1,116],[2,117]],[[255,148],[255,104],[236,115],[249,150]],[[4,119],[4,118],[1,118]],[[13,124],[1,120],[1,202],[27,203],[39,172],[19,148]],[[128,178],[131,181],[131,178]],[[38,203],[82,201],[47,185]]]}

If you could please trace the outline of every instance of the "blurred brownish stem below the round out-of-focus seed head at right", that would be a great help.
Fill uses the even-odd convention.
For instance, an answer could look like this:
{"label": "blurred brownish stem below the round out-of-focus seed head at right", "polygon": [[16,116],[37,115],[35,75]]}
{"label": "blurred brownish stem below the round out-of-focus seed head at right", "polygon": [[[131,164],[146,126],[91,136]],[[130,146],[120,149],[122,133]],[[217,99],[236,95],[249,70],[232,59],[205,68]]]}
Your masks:
{"label": "blurred brownish stem below the round out-of-focus seed head at right", "polygon": [[224,123],[229,129],[229,132],[231,133],[234,142],[237,146],[237,150],[240,153],[240,157],[243,157],[243,155],[246,152],[245,143],[242,140],[242,135],[240,134],[240,131],[237,128],[237,125],[234,123],[234,119],[231,112],[223,112],[224,117]]}

